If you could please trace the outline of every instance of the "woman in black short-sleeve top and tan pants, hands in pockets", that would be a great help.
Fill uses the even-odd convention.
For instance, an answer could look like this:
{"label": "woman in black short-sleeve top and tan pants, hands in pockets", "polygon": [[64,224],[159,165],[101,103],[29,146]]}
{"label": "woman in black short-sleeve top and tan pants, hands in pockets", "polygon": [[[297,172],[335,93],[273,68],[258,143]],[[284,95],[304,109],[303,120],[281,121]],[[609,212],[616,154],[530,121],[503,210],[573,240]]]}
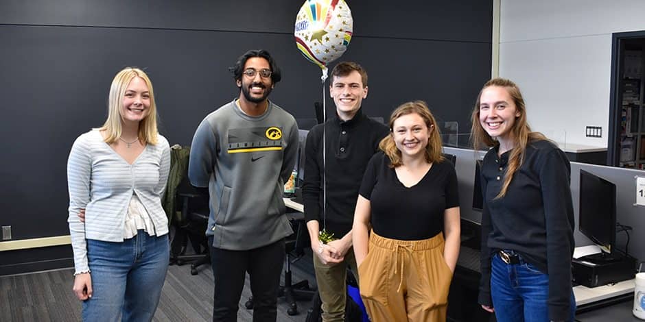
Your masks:
{"label": "woman in black short-sleeve top and tan pants, hands in pockets", "polygon": [[354,214],[361,297],[371,321],[445,321],[459,253],[456,173],[423,101],[399,106],[389,125]]}

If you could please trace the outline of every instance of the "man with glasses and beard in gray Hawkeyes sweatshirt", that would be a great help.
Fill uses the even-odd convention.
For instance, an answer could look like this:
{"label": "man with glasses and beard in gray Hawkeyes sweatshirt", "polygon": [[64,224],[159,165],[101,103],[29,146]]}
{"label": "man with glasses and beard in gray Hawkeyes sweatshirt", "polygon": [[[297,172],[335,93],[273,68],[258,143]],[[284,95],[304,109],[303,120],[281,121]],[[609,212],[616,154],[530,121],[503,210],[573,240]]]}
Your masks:
{"label": "man with glasses and beard in gray Hawkeyes sweatshirt", "polygon": [[213,321],[237,320],[247,272],[253,321],[276,321],[284,238],[292,234],[282,193],[296,162],[298,125],[268,100],[281,75],[267,51],[247,51],[230,70],[239,95],[200,123],[188,168],[193,186],[209,188]]}

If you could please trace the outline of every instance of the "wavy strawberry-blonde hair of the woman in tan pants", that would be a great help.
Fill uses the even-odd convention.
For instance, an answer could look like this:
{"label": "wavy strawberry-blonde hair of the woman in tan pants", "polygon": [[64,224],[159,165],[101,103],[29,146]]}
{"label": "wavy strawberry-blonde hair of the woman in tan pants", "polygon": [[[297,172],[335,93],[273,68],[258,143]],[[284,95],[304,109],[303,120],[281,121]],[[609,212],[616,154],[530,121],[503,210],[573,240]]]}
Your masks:
{"label": "wavy strawberry-blonde hair of the woman in tan pants", "polygon": [[439,133],[436,121],[434,120],[434,116],[432,116],[430,109],[427,108],[427,104],[424,101],[410,101],[401,104],[401,106],[392,112],[389,123],[390,135],[383,138],[379,143],[379,149],[381,149],[386,156],[390,158],[390,168],[395,168],[403,164],[401,162],[401,151],[397,149],[394,137],[392,136],[394,121],[403,115],[412,113],[419,114],[421,119],[425,122],[425,126],[430,130],[430,137],[428,138],[427,145],[425,146],[425,161],[432,163],[442,162],[444,160],[443,155],[441,154],[441,133]]}

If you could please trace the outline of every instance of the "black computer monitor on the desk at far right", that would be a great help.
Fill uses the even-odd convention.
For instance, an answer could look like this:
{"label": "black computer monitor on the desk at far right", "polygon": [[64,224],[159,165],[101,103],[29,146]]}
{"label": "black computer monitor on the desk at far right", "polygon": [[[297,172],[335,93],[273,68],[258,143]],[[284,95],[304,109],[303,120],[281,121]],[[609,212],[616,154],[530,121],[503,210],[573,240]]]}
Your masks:
{"label": "black computer monitor on the desk at far right", "polygon": [[601,257],[615,252],[615,184],[598,177],[598,175],[580,169],[579,200],[578,230],[600,246],[602,250]]}

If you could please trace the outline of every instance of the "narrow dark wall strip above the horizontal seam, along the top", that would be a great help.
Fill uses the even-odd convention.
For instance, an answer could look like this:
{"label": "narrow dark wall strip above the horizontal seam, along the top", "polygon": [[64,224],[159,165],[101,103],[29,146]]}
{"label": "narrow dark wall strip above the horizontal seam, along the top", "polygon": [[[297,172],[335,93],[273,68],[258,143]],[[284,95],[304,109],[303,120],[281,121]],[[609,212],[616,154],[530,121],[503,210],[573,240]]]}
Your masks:
{"label": "narrow dark wall strip above the horizontal seam, along the top", "polygon": [[[303,0],[3,1],[0,24],[293,34]],[[491,42],[492,1],[351,1],[355,36]]]}

